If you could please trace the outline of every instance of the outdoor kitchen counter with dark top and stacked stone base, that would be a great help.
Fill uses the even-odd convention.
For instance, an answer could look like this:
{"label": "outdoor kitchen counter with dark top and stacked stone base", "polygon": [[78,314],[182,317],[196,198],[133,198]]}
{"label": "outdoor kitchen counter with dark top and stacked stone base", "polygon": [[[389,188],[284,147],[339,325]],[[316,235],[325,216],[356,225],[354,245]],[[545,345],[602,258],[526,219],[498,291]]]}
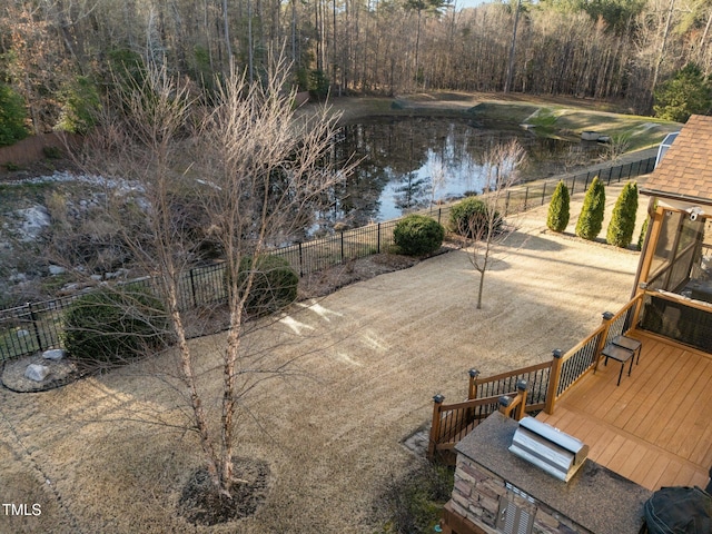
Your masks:
{"label": "outdoor kitchen counter with dark top and stacked stone base", "polygon": [[518,423],[495,412],[456,447],[447,534],[636,534],[652,492],[586,459],[562,482],[508,451]]}

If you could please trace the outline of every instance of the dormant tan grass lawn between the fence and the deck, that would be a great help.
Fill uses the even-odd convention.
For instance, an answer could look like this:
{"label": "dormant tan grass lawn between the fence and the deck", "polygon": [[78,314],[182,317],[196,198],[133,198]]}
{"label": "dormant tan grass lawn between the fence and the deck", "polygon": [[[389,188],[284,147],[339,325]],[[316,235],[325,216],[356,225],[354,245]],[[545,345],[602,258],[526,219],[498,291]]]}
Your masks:
{"label": "dormant tan grass lawn between the fence and the deck", "polygon": [[[251,335],[251,348],[270,358],[300,357],[295,373],[245,405],[239,454],[269,463],[267,502],[255,517],[209,532],[374,532],[385,520],[379,492],[418,461],[402,442],[428,424],[434,394],[464,398],[471,367],[490,375],[542,362],[617,310],[639,255],[553,235],[544,220],[544,208],[518,220],[487,274],[482,310],[458,250],[295,306]],[[215,399],[221,339],[194,342]],[[0,390],[0,501],[42,511],[0,510],[0,533],[208,532],[176,514],[199,466],[194,437],[166,426],[181,424],[180,399],[145,376],[172,366],[165,355],[42,394]],[[165,424],[137,421],[149,418]]]}

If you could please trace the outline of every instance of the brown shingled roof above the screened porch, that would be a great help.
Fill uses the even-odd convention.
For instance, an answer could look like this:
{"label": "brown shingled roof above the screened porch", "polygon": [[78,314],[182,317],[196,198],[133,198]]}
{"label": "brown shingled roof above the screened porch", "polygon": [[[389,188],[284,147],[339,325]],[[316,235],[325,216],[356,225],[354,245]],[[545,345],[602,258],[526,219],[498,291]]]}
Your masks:
{"label": "brown shingled roof above the screened porch", "polygon": [[690,117],[641,192],[712,205],[712,117]]}

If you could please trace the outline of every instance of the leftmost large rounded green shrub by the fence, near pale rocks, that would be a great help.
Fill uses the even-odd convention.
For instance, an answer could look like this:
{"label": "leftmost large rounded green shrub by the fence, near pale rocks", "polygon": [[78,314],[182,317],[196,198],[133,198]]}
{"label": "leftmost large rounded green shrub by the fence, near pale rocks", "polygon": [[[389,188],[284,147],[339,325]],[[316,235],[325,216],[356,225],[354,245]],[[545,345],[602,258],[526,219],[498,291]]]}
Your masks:
{"label": "leftmost large rounded green shrub by the fence, near pale rocks", "polygon": [[88,293],[65,312],[65,348],[88,366],[112,366],[165,348],[169,320],[141,287]]}

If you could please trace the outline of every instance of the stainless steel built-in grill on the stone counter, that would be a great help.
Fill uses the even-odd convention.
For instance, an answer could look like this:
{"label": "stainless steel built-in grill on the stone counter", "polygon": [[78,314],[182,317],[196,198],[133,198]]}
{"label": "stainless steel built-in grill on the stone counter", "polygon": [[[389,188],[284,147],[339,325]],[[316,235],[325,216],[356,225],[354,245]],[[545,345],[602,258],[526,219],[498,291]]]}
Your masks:
{"label": "stainless steel built-in grill on the stone counter", "polygon": [[586,461],[589,445],[534,417],[524,417],[514,433],[510,451],[567,482]]}

